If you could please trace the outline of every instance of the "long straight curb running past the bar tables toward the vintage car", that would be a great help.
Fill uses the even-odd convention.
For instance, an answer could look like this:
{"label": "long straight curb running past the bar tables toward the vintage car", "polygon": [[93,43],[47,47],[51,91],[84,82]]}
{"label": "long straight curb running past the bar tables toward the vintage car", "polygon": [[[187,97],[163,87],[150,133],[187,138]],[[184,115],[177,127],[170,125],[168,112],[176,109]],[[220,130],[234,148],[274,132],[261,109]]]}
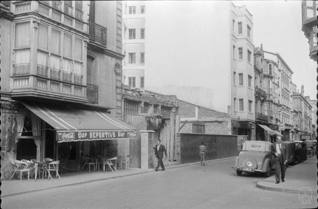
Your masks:
{"label": "long straight curb running past the bar tables toward the vintage car", "polygon": [[[229,160],[229,159],[234,159],[236,157],[237,156],[229,157],[229,158],[222,158],[222,159],[215,159],[215,160],[208,160],[208,161],[205,161],[205,163]],[[166,169],[186,167],[186,166],[196,165],[196,164],[200,164],[200,163],[201,162],[170,165],[170,166],[166,166]],[[33,189],[33,190],[28,190],[28,191],[22,191],[22,192],[17,192],[17,193],[12,193],[12,194],[1,195],[1,197],[9,197],[9,196],[14,196],[14,195],[19,195],[19,194],[25,194],[25,193],[36,192],[36,191],[43,191],[43,190],[48,190],[48,189],[61,188],[61,187],[66,187],[66,186],[75,186],[75,185],[87,184],[87,183],[92,183],[92,182],[97,182],[97,181],[105,181],[105,180],[115,179],[115,178],[124,178],[124,177],[127,177],[127,176],[135,176],[135,175],[139,175],[139,174],[143,174],[143,173],[149,173],[149,172],[153,172],[153,171],[154,170],[152,168],[150,168],[150,169],[138,172],[138,173],[124,174],[124,175],[121,175],[121,176],[113,176],[113,177],[100,178],[100,179],[92,179],[92,180],[87,180],[87,181],[79,181],[79,182],[75,182],[75,183],[69,183],[69,184],[64,184],[64,185],[59,185],[59,186],[52,186],[52,187],[41,188],[41,189]]]}

